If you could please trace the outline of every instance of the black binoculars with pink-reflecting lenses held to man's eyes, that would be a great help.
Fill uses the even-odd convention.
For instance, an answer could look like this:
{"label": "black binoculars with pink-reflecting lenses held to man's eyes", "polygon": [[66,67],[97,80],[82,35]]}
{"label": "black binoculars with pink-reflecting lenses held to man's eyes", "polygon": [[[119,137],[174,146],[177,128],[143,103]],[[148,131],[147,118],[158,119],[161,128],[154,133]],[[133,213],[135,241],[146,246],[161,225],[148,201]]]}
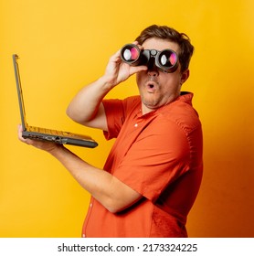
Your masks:
{"label": "black binoculars with pink-reflecting lenses held to man's eyes", "polygon": [[178,68],[178,56],[172,49],[158,51],[156,49],[141,50],[134,44],[127,44],[121,49],[121,59],[131,66],[145,65],[153,69],[153,65],[166,73],[173,73]]}

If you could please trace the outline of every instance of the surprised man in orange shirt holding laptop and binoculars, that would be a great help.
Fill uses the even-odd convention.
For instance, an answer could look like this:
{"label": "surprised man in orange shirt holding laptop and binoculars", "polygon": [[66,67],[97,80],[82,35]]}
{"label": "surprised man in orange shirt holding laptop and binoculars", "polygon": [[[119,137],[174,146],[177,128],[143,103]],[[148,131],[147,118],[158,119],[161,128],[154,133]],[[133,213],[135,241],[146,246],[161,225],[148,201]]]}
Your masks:
{"label": "surprised man in orange shirt holding laptop and binoculars", "polygon": [[[90,192],[83,237],[187,237],[186,217],[203,168],[193,94],[181,92],[194,48],[185,34],[155,25],[133,44],[141,53],[153,50],[154,56],[170,49],[179,60],[176,68],[162,68],[155,57],[132,66],[122,61],[119,50],[104,75],[82,88],[67,110],[75,122],[101,129],[107,139],[117,138],[103,170],[61,145],[23,139],[21,128],[19,139],[55,156]],[[140,96],[104,99],[132,74]]]}

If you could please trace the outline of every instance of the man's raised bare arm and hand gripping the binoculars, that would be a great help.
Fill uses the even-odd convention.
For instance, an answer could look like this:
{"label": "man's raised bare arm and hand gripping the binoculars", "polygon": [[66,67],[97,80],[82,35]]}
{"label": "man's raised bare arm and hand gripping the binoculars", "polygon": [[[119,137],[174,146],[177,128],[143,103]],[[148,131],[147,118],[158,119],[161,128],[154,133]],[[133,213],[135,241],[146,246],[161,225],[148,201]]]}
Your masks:
{"label": "man's raised bare arm and hand gripping the binoculars", "polygon": [[[69,103],[67,114],[77,123],[95,128],[105,128],[106,122],[103,119],[104,112],[101,107],[102,99],[113,87],[127,80],[132,74],[145,69],[147,69],[146,66],[131,67],[123,63],[120,50],[117,51],[111,56],[104,75],[99,80],[81,89]],[[93,119],[97,121],[91,123]]]}

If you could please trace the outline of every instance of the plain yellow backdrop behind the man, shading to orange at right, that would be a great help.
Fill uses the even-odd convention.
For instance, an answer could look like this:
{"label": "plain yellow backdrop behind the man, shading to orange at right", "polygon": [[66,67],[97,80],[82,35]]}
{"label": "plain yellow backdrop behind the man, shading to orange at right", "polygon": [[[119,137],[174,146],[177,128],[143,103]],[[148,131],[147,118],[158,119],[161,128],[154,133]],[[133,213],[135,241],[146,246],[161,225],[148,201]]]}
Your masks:
{"label": "plain yellow backdrop behind the man, shading to orange at right", "polygon": [[[20,56],[31,125],[90,133],[96,149],[69,148],[102,167],[112,142],[65,114],[108,58],[149,25],[175,27],[196,47],[184,91],[204,129],[205,172],[190,237],[254,237],[254,2],[221,0],[0,2],[0,237],[79,237],[89,203],[56,159],[17,140],[12,54]],[[108,97],[137,93],[134,78]]]}

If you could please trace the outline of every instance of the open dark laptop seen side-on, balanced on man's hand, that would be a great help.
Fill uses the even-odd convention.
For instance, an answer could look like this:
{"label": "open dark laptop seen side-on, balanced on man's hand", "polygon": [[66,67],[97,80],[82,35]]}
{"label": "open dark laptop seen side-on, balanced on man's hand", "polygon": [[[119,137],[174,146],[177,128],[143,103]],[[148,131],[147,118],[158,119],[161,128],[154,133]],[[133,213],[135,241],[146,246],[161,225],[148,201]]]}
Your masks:
{"label": "open dark laptop seen side-on, balanced on man's hand", "polygon": [[19,102],[21,123],[23,127],[22,136],[33,140],[52,142],[56,144],[71,144],[94,148],[98,144],[88,135],[57,131],[52,129],[30,126],[26,123],[25,103],[22,94],[20,73],[18,68],[18,56],[13,54],[13,64],[16,77],[16,90]]}

